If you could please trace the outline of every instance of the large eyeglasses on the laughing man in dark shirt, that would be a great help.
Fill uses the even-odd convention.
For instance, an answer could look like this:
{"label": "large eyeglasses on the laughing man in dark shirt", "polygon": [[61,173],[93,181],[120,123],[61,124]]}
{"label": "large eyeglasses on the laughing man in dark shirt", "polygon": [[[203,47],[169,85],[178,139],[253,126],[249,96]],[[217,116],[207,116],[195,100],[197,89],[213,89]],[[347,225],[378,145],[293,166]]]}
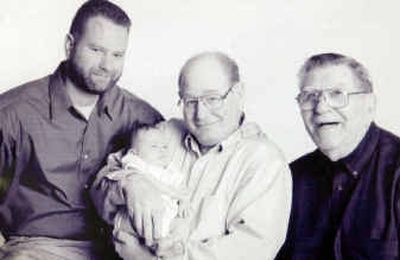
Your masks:
{"label": "large eyeglasses on the laughing man in dark shirt", "polygon": [[319,102],[321,96],[332,108],[343,108],[349,104],[350,95],[369,94],[370,91],[355,91],[347,92],[341,89],[324,89],[313,91],[301,91],[296,100],[299,103],[300,109],[311,110]]}

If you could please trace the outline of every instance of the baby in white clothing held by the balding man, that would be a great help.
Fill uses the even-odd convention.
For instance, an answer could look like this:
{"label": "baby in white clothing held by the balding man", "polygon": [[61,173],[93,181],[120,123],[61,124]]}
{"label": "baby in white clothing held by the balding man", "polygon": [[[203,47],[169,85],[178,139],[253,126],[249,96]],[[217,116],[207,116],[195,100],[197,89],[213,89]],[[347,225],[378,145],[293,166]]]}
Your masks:
{"label": "baby in white clothing held by the balding man", "polygon": [[[109,165],[126,170],[132,170],[128,174],[111,172],[107,175],[109,179],[121,180],[129,178],[134,174],[140,174],[148,180],[161,183],[167,189],[174,190],[174,194],[187,194],[184,189],[184,175],[176,170],[172,158],[174,153],[182,148],[182,126],[177,120],[161,122],[155,127],[144,127],[139,129],[132,137],[130,149],[125,155],[114,156],[109,159]],[[112,162],[111,162],[112,161]],[[115,163],[117,162],[117,165]],[[176,167],[178,168],[178,167]],[[166,237],[170,230],[171,221],[179,216],[185,215],[185,199],[173,198],[163,194],[162,199],[165,206],[162,216],[161,237]],[[133,235],[133,226],[126,209],[120,210],[114,219],[114,236],[118,232],[125,232],[125,235]],[[121,247],[121,244],[118,244]],[[118,252],[128,249],[116,248]]]}

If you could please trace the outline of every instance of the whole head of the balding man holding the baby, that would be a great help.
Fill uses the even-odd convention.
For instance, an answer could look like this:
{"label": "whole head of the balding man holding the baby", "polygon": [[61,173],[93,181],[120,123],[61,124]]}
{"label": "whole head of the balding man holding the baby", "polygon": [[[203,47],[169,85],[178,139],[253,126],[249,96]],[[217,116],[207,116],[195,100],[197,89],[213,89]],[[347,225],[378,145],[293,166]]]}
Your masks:
{"label": "whole head of the balding man holding the baby", "polygon": [[179,96],[185,123],[204,151],[240,125],[243,87],[238,71],[236,62],[219,52],[198,54],[181,70]]}

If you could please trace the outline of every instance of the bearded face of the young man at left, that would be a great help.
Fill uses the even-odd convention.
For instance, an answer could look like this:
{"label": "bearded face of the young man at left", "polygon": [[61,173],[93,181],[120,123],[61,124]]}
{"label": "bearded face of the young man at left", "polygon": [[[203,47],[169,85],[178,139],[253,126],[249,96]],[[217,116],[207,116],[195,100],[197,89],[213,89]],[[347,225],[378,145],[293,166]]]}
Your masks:
{"label": "bearded face of the young man at left", "polygon": [[[69,39],[72,75],[87,91],[101,94],[121,76],[128,29],[111,20],[89,18],[80,39]],[[82,86],[83,85],[83,86]]]}

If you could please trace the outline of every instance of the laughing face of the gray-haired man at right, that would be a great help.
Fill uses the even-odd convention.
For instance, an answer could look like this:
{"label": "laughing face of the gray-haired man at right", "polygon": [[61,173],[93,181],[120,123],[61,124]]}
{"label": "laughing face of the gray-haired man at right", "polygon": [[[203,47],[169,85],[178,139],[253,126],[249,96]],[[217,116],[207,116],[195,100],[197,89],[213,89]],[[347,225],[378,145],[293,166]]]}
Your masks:
{"label": "laughing face of the gray-haired man at right", "polygon": [[[327,65],[310,71],[301,91],[338,89],[362,92],[360,81],[346,65]],[[335,108],[322,94],[311,109],[302,109],[306,129],[318,148],[335,160],[353,151],[371,123],[375,111],[372,93],[348,95],[348,104]],[[336,155],[335,155],[336,154]],[[331,158],[332,159],[332,158]]]}

